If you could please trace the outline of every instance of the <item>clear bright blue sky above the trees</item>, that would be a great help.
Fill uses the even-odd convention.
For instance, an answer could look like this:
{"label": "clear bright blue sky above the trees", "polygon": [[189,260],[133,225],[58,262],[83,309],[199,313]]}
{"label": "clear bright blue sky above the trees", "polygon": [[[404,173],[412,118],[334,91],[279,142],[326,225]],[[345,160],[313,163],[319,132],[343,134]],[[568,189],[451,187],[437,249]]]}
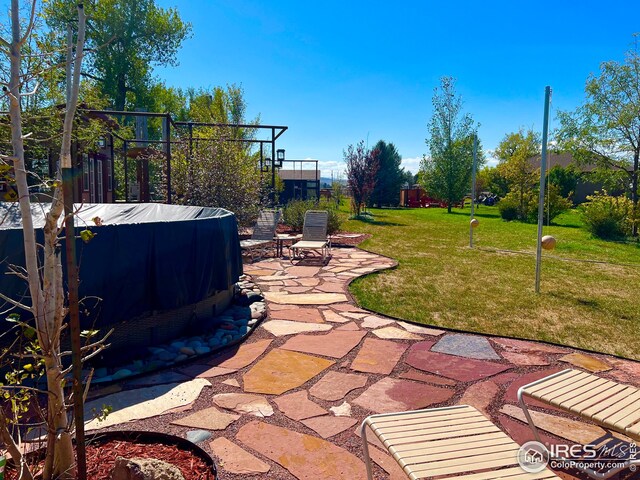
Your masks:
{"label": "clear bright blue sky above the trees", "polygon": [[542,129],[544,87],[557,110],[584,100],[589,74],[622,61],[640,32],[638,0],[159,0],[193,24],[168,85],[239,84],[248,117],[286,125],[289,159],[344,170],[343,150],[393,142],[414,173],[427,153],[442,76],[481,126],[486,150],[520,127]]}

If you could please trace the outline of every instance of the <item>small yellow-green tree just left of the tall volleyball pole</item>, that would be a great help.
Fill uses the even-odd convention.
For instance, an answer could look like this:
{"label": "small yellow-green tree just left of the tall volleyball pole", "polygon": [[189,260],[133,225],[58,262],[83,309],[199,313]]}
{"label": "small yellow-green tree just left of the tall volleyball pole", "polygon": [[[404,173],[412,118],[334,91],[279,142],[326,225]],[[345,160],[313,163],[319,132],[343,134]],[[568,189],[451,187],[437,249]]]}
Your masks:
{"label": "small yellow-green tree just left of the tall volleyball pole", "polygon": [[532,162],[540,151],[540,137],[533,130],[508,133],[495,151],[498,170],[507,180],[509,192],[518,200],[518,218],[527,217],[527,198],[539,181],[539,171]]}

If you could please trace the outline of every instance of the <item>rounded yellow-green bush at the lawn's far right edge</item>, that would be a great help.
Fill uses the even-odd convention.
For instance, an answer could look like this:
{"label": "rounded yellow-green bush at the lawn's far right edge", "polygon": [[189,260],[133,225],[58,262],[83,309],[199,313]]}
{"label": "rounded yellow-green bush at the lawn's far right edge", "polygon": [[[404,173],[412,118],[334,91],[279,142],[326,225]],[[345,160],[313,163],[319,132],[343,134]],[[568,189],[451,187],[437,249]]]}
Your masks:
{"label": "rounded yellow-green bush at the lawn's far right edge", "polygon": [[623,238],[633,227],[633,202],[624,195],[613,197],[606,191],[587,197],[581,206],[582,219],[592,235],[604,238]]}

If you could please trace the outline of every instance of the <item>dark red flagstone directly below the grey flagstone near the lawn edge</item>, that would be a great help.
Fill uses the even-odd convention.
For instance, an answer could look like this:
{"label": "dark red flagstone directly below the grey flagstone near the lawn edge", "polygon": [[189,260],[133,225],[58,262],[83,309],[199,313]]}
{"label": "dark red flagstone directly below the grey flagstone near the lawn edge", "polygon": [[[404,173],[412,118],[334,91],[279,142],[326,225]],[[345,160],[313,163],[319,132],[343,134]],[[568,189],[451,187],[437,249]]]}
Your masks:
{"label": "dark red flagstone directly below the grey flagstone near the lawn edge", "polygon": [[435,373],[461,382],[490,377],[511,368],[510,365],[462,358],[444,353],[430,352],[433,342],[418,342],[411,346],[406,362],[414,368]]}

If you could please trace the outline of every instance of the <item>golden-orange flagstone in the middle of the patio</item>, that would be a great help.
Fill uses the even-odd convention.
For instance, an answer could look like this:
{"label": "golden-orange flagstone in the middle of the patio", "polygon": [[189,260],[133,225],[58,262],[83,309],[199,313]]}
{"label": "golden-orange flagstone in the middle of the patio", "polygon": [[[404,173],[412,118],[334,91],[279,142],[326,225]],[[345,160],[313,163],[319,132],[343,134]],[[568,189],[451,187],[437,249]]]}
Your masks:
{"label": "golden-orange flagstone in the middle of the patio", "polygon": [[324,358],[274,349],[244,374],[244,390],[280,395],[311,380],[333,364]]}

